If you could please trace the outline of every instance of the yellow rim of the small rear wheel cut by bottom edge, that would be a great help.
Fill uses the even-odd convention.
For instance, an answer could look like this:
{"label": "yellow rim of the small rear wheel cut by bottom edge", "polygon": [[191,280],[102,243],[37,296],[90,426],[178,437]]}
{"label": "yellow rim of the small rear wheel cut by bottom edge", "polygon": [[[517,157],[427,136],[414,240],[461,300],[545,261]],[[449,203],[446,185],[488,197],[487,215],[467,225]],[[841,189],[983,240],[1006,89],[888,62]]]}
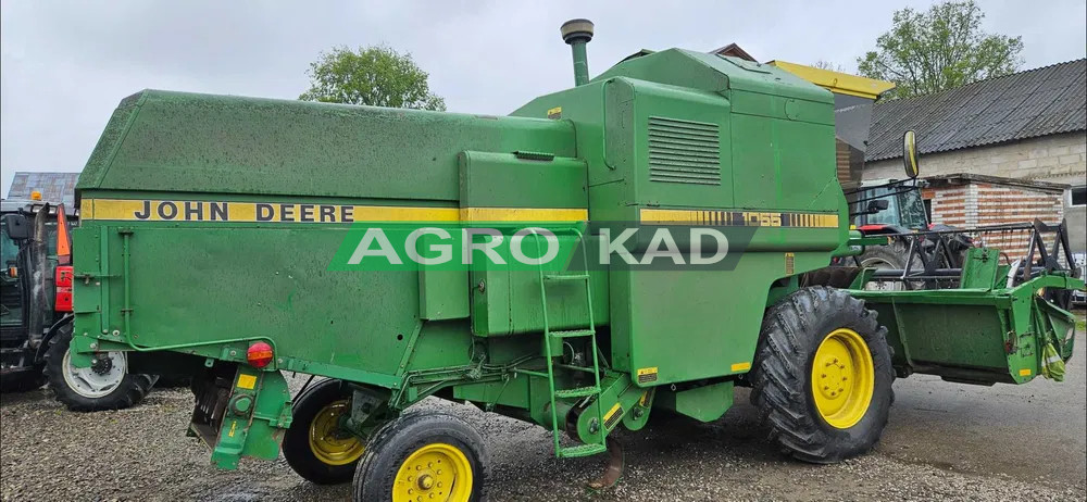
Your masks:
{"label": "yellow rim of the small rear wheel cut by bottom edge", "polygon": [[397,472],[392,501],[467,502],[472,495],[472,465],[459,448],[426,444],[408,456]]}

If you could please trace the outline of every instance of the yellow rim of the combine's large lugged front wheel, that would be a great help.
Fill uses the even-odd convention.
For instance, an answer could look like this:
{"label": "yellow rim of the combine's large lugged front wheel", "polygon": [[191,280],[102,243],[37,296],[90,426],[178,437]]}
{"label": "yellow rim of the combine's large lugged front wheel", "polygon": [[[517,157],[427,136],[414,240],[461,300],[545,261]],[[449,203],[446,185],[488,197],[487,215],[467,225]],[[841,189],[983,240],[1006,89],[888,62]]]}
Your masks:
{"label": "yellow rim of the combine's large lugged front wheel", "polygon": [[874,389],[872,353],[864,339],[847,328],[827,335],[812,361],[812,396],[820,416],[832,427],[848,429],[864,417]]}

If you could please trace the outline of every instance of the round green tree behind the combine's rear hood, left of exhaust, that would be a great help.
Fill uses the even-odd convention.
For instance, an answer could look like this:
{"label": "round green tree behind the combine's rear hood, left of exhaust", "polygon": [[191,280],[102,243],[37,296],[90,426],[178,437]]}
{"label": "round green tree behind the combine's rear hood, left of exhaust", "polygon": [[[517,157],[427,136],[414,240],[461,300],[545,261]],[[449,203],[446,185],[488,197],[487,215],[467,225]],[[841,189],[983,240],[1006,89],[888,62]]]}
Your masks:
{"label": "round green tree behind the combine's rear hood, left of exhaust", "polygon": [[301,100],[446,110],[446,100],[430,92],[427,73],[411,54],[388,47],[336,47],[322,52],[305,74],[310,76],[310,90],[298,97]]}

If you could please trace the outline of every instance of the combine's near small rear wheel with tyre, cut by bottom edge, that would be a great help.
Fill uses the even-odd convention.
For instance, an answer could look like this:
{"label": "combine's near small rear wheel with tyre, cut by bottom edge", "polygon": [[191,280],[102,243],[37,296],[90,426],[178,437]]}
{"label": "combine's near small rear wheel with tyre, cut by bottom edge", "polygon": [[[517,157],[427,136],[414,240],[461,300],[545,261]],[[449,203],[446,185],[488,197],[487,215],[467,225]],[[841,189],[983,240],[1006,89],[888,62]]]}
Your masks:
{"label": "combine's near small rear wheel with tyre, cut by bottom edge", "polygon": [[409,413],[374,434],[354,473],[355,502],[487,500],[483,438],[445,413]]}

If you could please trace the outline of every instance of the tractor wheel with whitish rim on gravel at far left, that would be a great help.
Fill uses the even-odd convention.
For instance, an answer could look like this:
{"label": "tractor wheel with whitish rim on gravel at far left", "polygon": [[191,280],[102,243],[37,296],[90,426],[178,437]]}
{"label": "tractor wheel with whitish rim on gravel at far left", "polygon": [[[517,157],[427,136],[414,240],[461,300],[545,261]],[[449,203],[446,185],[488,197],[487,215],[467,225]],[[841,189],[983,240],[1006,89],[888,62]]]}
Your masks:
{"label": "tractor wheel with whitish rim on gravel at far left", "polygon": [[60,328],[46,351],[46,378],[57,400],[74,412],[123,410],[143,400],[157,377],[128,373],[124,352],[107,352],[93,367],[72,364],[72,324]]}

